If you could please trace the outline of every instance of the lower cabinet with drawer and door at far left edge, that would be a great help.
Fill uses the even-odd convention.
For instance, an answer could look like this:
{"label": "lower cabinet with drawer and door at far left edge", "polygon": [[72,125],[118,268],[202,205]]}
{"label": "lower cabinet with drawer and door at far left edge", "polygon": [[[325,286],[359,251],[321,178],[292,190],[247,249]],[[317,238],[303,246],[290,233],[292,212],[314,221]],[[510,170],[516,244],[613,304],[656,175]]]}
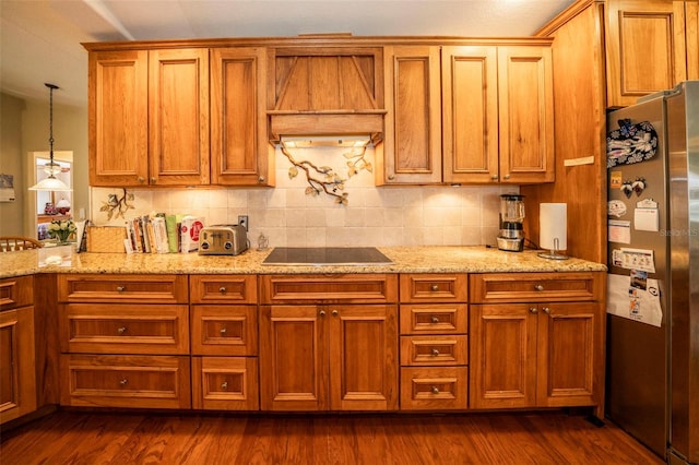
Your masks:
{"label": "lower cabinet with drawer and door at far left edge", "polygon": [[0,425],[37,406],[34,277],[0,281]]}

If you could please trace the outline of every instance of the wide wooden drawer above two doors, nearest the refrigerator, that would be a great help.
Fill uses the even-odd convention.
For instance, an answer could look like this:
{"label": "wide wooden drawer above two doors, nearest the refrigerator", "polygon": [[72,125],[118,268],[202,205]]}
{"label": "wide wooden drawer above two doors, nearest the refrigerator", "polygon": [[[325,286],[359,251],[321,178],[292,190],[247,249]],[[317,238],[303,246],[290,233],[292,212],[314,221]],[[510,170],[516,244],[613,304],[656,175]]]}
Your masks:
{"label": "wide wooden drawer above two doors, nearest the refrigerator", "polygon": [[605,273],[494,273],[471,275],[471,302],[602,300]]}

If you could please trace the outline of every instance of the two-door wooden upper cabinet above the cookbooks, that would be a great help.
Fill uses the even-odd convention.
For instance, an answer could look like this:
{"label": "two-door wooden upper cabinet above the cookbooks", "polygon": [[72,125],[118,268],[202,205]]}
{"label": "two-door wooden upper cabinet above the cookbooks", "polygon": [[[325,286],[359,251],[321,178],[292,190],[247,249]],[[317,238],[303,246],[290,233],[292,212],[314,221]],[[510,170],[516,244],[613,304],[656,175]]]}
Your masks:
{"label": "two-door wooden upper cabinet above the cookbooks", "polygon": [[92,51],[90,183],[208,184],[209,50]]}

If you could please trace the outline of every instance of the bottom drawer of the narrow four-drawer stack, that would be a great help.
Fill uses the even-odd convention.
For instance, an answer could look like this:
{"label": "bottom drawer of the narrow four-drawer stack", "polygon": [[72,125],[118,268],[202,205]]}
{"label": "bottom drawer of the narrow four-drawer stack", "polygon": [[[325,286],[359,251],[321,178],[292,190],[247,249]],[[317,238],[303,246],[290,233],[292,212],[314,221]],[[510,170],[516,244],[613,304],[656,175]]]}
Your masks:
{"label": "bottom drawer of the narrow four-drawer stack", "polygon": [[466,367],[401,368],[401,410],[466,408]]}

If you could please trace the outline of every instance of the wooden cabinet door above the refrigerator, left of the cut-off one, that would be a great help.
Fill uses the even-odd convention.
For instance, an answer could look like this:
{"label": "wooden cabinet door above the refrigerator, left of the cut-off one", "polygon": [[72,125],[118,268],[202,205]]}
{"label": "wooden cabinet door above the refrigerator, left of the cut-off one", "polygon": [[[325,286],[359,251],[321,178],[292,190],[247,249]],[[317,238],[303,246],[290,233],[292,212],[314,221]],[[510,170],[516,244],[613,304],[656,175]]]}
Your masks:
{"label": "wooden cabinet door above the refrigerator, left of the cut-off one", "polygon": [[607,0],[607,106],[687,79],[682,0]]}

